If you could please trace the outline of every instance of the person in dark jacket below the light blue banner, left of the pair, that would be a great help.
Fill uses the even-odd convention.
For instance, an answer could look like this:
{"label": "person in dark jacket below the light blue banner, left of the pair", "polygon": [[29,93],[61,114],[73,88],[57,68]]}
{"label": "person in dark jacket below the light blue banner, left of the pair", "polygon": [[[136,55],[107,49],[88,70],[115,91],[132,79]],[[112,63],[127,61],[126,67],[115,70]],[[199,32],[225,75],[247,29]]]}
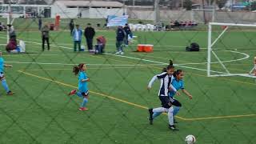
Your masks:
{"label": "person in dark jacket below the light blue banner, left of the pair", "polygon": [[117,47],[117,52],[115,54],[124,54],[123,53],[123,41],[124,38],[126,37],[126,32],[125,30],[122,30],[122,26],[118,26],[117,30],[117,42],[116,42],[116,47]]}

